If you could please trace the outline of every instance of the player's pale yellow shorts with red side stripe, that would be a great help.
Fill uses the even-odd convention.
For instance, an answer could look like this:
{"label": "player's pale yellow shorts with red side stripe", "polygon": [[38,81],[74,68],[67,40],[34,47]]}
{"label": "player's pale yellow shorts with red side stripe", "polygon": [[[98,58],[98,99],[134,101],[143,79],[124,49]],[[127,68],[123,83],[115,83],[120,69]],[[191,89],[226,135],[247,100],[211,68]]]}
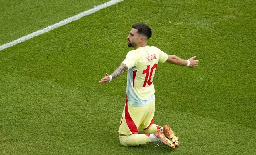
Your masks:
{"label": "player's pale yellow shorts with red side stripe", "polygon": [[130,106],[127,97],[122,113],[119,133],[123,135],[137,134],[140,130],[146,130],[153,124],[155,113],[155,100],[146,106]]}

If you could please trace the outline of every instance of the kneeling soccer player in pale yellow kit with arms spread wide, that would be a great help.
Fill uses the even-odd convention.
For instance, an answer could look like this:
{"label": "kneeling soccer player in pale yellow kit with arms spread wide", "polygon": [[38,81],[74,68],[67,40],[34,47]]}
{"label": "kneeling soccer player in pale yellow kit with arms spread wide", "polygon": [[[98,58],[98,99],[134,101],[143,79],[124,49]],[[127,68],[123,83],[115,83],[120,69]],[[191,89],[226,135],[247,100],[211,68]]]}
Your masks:
{"label": "kneeling soccer player in pale yellow kit with arms spread wide", "polygon": [[155,89],[153,79],[158,62],[195,68],[198,60],[195,56],[183,60],[175,55],[167,55],[154,46],[148,46],[151,37],[151,28],[144,23],[132,25],[128,35],[128,46],[134,47],[127,53],[125,60],[111,74],[99,81],[99,85],[110,82],[121,76],[126,70],[126,104],[122,113],[119,127],[119,140],[123,146],[140,146],[149,142],[165,144],[171,148],[177,147],[180,142],[178,136],[169,125],[163,127],[153,124],[155,112]]}

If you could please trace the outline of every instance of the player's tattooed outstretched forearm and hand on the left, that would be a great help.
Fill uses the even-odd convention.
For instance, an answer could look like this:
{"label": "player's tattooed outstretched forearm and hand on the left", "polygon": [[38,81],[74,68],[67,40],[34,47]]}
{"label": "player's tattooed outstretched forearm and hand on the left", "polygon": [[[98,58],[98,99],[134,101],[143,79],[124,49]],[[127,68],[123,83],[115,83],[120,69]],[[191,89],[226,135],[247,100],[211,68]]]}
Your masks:
{"label": "player's tattooed outstretched forearm and hand on the left", "polygon": [[[126,64],[120,64],[120,66],[116,68],[116,70],[111,74],[112,79],[115,79],[116,77],[121,76],[126,70],[127,70]],[[99,81],[99,85],[109,82],[109,80],[111,80],[111,77],[109,76],[109,74],[106,73],[105,77],[103,77],[101,81]]]}

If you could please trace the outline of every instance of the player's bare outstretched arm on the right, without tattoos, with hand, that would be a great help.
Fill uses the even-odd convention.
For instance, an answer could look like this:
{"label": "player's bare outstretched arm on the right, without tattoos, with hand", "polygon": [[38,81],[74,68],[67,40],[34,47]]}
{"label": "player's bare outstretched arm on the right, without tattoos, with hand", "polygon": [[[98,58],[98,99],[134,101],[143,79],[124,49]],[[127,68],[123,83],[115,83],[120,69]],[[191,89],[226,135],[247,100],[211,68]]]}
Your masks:
{"label": "player's bare outstretched arm on the right, without tattoos, with hand", "polygon": [[[194,60],[195,58],[196,58],[196,56],[191,57],[191,58],[188,59],[188,61],[190,62],[188,67],[195,68],[195,67],[198,66],[199,61]],[[180,57],[177,57],[176,55],[168,55],[168,59],[166,61],[171,63],[171,64],[176,64],[176,65],[179,65],[179,66],[188,65],[187,60],[183,60]]]}

